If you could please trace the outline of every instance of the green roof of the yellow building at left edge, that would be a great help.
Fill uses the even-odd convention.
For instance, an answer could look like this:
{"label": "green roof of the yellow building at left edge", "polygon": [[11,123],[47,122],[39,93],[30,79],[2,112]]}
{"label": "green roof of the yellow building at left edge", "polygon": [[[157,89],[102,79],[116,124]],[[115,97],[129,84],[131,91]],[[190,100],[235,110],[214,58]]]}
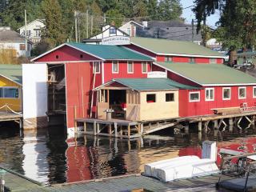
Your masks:
{"label": "green roof of the yellow building at left edge", "polygon": [[22,85],[21,65],[0,64],[0,75]]}

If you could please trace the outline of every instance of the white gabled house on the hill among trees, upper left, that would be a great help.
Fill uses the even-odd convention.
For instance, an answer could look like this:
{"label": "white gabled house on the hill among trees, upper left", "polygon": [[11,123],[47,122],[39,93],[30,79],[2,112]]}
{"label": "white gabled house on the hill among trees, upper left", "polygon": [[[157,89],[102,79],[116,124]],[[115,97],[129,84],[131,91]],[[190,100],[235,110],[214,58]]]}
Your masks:
{"label": "white gabled house on the hill among trees, upper left", "polygon": [[[43,19],[36,19],[26,25],[26,35],[31,42],[38,43],[41,41],[42,29],[45,27],[43,21]],[[25,37],[25,26],[22,26],[18,30],[19,34]]]}

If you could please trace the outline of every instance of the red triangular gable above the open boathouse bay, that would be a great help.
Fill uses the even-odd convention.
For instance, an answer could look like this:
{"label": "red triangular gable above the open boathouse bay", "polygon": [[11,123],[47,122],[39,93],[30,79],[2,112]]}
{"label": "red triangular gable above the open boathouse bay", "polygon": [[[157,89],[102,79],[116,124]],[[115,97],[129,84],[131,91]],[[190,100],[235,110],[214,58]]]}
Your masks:
{"label": "red triangular gable above the open boathouse bay", "polygon": [[[81,58],[82,55],[82,58]],[[57,58],[58,57],[58,58]],[[85,54],[82,51],[75,50],[70,46],[62,46],[58,50],[54,50],[46,54],[42,58],[38,58],[34,62],[70,62],[70,61],[89,61],[99,60],[90,54]]]}

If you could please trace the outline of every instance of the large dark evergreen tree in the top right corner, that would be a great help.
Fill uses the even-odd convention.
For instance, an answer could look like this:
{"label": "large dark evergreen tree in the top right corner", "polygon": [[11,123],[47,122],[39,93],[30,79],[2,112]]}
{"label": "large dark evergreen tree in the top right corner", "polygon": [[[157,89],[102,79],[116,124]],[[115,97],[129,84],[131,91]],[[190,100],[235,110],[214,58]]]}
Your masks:
{"label": "large dark evergreen tree in the top right corner", "polygon": [[[210,14],[219,9],[221,18],[218,30],[214,33],[222,46],[234,51],[252,49],[256,44],[256,2],[254,0],[197,0],[194,13],[198,19],[198,30],[201,22]],[[230,57],[233,64],[233,57]]]}

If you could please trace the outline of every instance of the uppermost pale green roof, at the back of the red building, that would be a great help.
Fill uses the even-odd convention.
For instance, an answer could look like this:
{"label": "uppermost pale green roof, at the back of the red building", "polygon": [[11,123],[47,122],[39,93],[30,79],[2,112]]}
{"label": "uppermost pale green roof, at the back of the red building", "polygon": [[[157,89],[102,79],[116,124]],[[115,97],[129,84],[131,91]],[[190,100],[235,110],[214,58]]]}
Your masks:
{"label": "uppermost pale green roof, at the back of the red building", "polygon": [[214,50],[210,50],[204,46],[198,46],[194,42],[173,41],[159,38],[130,38],[130,42],[134,45],[144,47],[156,54],[185,54],[194,56],[224,58],[223,54],[219,54]]}

